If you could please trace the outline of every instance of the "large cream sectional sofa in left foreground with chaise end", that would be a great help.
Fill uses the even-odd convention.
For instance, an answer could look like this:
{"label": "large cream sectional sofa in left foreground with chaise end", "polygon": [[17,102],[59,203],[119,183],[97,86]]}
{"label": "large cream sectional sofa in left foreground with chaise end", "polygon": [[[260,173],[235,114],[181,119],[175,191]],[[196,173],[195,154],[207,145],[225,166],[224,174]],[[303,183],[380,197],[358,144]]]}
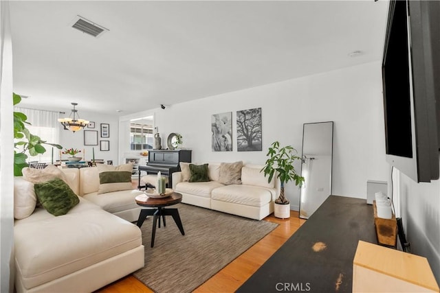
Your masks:
{"label": "large cream sectional sofa in left foreground with chaise end", "polygon": [[[144,266],[142,235],[131,223],[142,191],[97,194],[98,168],[63,172],[80,202],[65,215],[36,207],[14,222],[17,292],[92,292]],[[32,193],[29,185],[15,178],[14,197]]]}

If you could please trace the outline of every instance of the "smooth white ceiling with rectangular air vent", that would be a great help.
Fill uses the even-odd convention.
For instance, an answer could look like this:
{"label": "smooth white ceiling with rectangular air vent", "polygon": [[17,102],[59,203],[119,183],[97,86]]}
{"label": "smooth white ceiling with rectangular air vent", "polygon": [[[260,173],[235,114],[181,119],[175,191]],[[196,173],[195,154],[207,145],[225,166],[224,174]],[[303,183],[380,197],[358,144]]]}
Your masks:
{"label": "smooth white ceiling with rectangular air vent", "polygon": [[[388,1],[12,1],[21,106],[111,115],[382,59]],[[80,15],[99,38],[71,27]],[[351,51],[362,54],[351,58]],[[123,110],[116,113],[116,110]]]}

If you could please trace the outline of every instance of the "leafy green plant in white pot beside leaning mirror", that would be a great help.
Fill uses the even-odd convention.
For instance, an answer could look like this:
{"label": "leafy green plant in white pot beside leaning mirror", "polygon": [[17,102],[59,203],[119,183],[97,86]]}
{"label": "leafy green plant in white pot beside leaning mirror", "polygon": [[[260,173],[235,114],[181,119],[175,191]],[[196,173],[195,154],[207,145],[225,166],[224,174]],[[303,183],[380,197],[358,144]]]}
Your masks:
{"label": "leafy green plant in white pot beside leaning mirror", "polygon": [[269,159],[267,159],[263,169],[261,169],[261,172],[264,172],[264,176],[268,176],[267,182],[271,182],[274,176],[281,181],[280,196],[275,200],[274,214],[276,218],[285,219],[290,217],[290,202],[284,195],[285,183],[292,180],[296,186],[300,187],[304,182],[304,177],[298,175],[294,168],[294,162],[301,160],[297,154],[298,152],[292,145],[286,145],[281,148],[280,143],[275,141],[266,154]]}

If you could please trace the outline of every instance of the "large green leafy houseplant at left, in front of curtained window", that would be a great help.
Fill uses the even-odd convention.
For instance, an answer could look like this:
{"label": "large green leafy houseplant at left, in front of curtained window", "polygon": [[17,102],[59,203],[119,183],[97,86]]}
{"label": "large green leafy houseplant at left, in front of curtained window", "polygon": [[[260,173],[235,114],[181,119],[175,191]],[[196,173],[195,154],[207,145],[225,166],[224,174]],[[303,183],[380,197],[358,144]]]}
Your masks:
{"label": "large green leafy houseplant at left, in front of curtained window", "polygon": [[[20,95],[12,93],[12,99],[14,106],[21,102]],[[38,154],[44,154],[46,152],[43,144],[52,145],[54,148],[61,150],[63,147],[56,143],[47,143],[43,141],[39,136],[29,132],[26,125],[30,125],[27,121],[28,117],[21,112],[14,112],[14,176],[22,176],[21,170],[24,167],[28,167],[26,163],[28,155],[25,154],[29,151],[30,156],[37,156]],[[19,140],[19,141],[17,141]]]}

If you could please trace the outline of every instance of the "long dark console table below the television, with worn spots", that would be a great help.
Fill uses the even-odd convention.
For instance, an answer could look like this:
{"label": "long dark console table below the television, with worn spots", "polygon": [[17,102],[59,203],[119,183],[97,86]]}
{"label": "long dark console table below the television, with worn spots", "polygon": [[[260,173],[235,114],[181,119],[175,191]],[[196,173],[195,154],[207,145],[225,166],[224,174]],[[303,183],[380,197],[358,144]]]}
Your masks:
{"label": "long dark console table below the television, with worn spots", "polygon": [[377,244],[373,207],[329,196],[236,292],[351,292],[359,240]]}

